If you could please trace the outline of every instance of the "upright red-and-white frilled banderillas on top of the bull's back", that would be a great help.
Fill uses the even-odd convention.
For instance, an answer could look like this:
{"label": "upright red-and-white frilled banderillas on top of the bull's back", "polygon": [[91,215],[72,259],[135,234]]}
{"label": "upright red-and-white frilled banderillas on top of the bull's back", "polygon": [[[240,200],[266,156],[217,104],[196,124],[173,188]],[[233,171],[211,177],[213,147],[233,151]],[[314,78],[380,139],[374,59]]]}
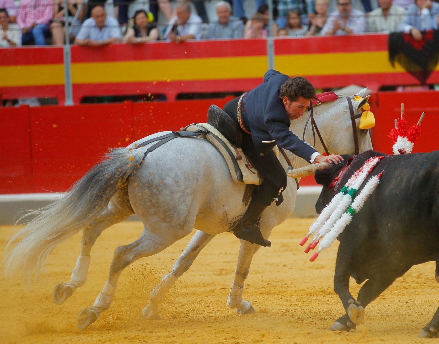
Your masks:
{"label": "upright red-and-white frilled banderillas on top of the bull's back", "polygon": [[392,128],[389,135],[392,138],[393,154],[411,153],[417,137],[421,134],[420,127],[424,116],[425,112],[421,114],[417,124],[407,130],[407,121],[404,119],[404,104],[401,104],[401,117],[395,120],[395,128]]}

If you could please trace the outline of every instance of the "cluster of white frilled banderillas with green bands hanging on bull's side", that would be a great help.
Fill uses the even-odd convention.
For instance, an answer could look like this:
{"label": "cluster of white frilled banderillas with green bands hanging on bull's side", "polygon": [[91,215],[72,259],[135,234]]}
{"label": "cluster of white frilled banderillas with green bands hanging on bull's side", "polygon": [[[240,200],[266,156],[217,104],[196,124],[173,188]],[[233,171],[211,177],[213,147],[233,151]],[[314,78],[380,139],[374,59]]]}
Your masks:
{"label": "cluster of white frilled banderillas with green bands hanging on bull's side", "polygon": [[302,239],[300,245],[303,246],[308,238],[312,234],[314,235],[313,242],[305,249],[305,253],[308,253],[309,250],[314,249],[317,244],[319,245],[318,251],[309,259],[311,262],[317,258],[321,250],[331,246],[338,235],[340,235],[350,223],[353,215],[363,207],[364,202],[366,202],[369,195],[375,190],[382,172],[367,181],[363,190],[355,197],[358,189],[382,158],[384,158],[384,156],[374,156],[367,159],[363,166],[355,171],[345,186],[340,189],[340,192],[338,192],[323,209],[311,227],[309,227],[309,232],[306,237]]}

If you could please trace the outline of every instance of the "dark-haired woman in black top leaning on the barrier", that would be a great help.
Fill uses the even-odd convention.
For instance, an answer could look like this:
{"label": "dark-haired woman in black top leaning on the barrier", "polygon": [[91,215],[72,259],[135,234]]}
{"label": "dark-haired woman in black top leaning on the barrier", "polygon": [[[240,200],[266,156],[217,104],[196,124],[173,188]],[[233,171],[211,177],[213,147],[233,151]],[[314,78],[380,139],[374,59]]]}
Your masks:
{"label": "dark-haired woman in black top leaning on the barrier", "polygon": [[123,38],[124,43],[138,44],[158,40],[158,29],[153,24],[151,13],[145,10],[137,10],[134,13],[134,26],[129,28]]}

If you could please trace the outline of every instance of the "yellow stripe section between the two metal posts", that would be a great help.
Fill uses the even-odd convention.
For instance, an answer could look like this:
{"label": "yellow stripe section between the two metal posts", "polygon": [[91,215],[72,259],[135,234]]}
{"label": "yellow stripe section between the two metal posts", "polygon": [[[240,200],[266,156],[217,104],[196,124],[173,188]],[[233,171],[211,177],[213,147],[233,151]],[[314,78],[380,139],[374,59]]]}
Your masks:
{"label": "yellow stripe section between the two metal posts", "polygon": [[163,82],[262,78],[265,56],[74,63],[72,82]]}

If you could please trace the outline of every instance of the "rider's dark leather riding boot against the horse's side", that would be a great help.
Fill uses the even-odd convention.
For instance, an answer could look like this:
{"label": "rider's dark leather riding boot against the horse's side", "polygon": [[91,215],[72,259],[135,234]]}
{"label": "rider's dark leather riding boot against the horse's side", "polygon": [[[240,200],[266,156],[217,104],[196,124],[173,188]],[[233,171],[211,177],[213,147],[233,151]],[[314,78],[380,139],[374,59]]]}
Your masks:
{"label": "rider's dark leather riding boot against the horse's side", "polygon": [[250,241],[252,244],[264,247],[271,246],[271,241],[265,240],[259,229],[259,220],[265,209],[266,206],[252,200],[244,216],[242,216],[238,225],[233,229],[233,234],[235,234],[237,238]]}

